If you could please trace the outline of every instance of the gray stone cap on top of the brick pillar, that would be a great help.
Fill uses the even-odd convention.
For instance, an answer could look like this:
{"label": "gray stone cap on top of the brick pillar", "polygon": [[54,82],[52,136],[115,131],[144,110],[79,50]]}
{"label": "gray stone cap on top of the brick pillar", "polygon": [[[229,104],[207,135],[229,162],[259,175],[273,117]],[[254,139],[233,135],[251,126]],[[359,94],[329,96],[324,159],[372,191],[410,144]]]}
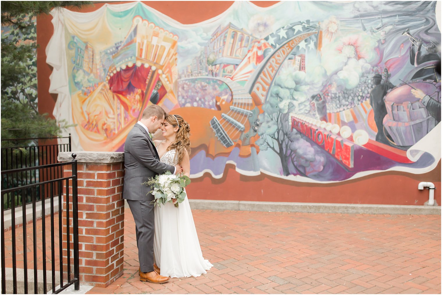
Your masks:
{"label": "gray stone cap on top of the brick pillar", "polygon": [[72,154],[79,163],[117,163],[124,161],[121,151],[61,151],[58,153],[59,162],[71,162]]}

